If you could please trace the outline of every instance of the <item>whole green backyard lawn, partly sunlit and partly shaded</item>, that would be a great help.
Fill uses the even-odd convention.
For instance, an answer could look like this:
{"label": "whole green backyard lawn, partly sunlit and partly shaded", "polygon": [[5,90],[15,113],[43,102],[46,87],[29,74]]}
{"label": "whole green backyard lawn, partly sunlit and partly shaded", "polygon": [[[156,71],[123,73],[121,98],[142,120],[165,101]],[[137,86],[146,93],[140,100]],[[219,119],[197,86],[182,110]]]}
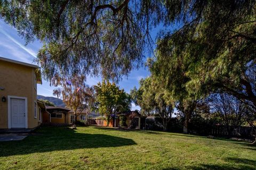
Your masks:
{"label": "whole green backyard lawn, partly sunlit and partly shaded", "polygon": [[0,142],[0,169],[256,169],[256,147],[179,133],[49,127]]}

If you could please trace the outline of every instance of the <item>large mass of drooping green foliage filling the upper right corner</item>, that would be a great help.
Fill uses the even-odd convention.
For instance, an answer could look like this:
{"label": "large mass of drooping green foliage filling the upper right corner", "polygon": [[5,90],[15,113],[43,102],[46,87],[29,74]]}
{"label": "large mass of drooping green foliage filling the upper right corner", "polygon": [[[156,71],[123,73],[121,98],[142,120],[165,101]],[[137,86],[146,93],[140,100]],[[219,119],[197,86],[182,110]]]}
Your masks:
{"label": "large mass of drooping green foliage filling the upper right corner", "polygon": [[255,106],[255,2],[198,3],[185,8],[195,14],[183,27],[158,39],[151,71],[178,100],[222,91]]}

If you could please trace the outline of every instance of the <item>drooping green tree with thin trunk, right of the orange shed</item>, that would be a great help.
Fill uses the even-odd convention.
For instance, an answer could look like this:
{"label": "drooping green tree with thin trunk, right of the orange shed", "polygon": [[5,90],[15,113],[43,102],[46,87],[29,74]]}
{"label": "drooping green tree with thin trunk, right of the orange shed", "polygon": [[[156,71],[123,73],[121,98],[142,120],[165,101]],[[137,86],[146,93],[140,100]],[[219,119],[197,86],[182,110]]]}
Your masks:
{"label": "drooping green tree with thin trunk, right of the orange shed", "polygon": [[174,104],[159,82],[153,77],[141,79],[140,88],[137,90],[134,87],[130,94],[135,105],[140,106],[142,114],[155,114],[161,117],[163,130],[166,131],[173,114]]}

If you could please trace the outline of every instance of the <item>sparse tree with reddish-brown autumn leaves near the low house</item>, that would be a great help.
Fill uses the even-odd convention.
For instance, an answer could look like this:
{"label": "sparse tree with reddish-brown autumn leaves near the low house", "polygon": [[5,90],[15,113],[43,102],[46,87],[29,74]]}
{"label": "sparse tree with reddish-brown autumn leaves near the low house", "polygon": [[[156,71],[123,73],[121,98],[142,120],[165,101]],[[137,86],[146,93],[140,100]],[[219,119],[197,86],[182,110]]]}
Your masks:
{"label": "sparse tree with reddish-brown autumn leaves near the low house", "polygon": [[93,88],[85,83],[84,77],[78,77],[77,75],[73,77],[61,77],[59,81],[56,84],[61,83],[61,88],[54,89],[53,95],[62,97],[66,106],[73,109],[75,114],[74,124],[76,124],[77,117],[84,110],[90,112],[94,103]]}

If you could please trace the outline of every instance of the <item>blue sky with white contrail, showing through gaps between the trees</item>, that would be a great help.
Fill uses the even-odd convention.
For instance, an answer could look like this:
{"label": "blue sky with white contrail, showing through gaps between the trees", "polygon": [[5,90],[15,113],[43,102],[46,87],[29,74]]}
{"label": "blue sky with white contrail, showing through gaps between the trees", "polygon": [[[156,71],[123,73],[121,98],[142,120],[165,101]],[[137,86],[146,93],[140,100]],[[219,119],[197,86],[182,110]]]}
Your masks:
{"label": "blue sky with white contrail, showing through gaps between the trees", "polygon": [[[158,29],[151,31],[153,39],[156,37]],[[12,60],[17,60],[26,63],[33,63],[36,58],[39,48],[42,44],[39,41],[34,41],[33,43],[25,46],[25,41],[18,35],[15,28],[6,24],[3,20],[0,20],[0,56],[5,58],[10,58]],[[123,77],[123,80],[118,83],[118,86],[124,89],[126,92],[130,93],[130,90],[136,86],[139,87],[139,80],[141,78],[146,78],[149,75],[149,71],[145,67],[141,67],[138,70],[133,70],[129,77]],[[101,81],[100,77],[89,77],[86,83],[89,86],[93,86]],[[49,82],[43,80],[43,84],[37,85],[38,95],[43,96],[53,96],[52,90],[54,87],[50,87]],[[53,96],[56,97],[56,96]],[[132,105],[132,109],[139,109],[138,106]]]}

